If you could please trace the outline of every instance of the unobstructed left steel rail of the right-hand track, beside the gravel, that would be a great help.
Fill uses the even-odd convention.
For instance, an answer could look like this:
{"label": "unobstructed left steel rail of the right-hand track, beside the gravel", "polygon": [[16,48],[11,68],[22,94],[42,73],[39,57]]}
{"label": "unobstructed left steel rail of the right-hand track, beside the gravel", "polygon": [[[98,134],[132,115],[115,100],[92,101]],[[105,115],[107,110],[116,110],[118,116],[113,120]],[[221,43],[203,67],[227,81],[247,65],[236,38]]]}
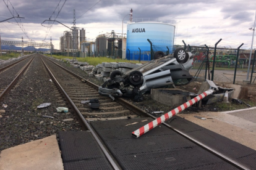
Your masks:
{"label": "unobstructed left steel rail of the right-hand track, beside the gravel", "polygon": [[[90,127],[90,125],[87,123],[86,119],[83,117],[82,113],[80,113],[79,109],[75,106],[75,103],[70,99],[69,95],[67,95],[67,93],[64,91],[64,89],[61,87],[61,84],[59,84],[59,82],[57,81],[57,79],[55,78],[55,76],[53,75],[53,73],[51,73],[51,71],[49,70],[49,68],[47,67],[46,63],[43,61],[43,59],[41,59],[43,64],[45,65],[46,70],[48,71],[49,75],[51,76],[51,78],[53,79],[54,83],[56,83],[56,85],[58,86],[58,88],[61,90],[62,94],[64,94],[64,97],[67,99],[67,102],[69,102],[70,106],[72,107],[73,111],[77,114],[77,116],[79,116],[80,121],[82,121],[83,126],[87,127],[88,131],[90,131],[92,133],[92,136],[95,138],[97,144],[100,146],[102,152],[104,153],[104,155],[106,156],[106,159],[109,161],[109,164],[111,164],[113,169],[119,169],[117,164],[114,162],[114,160],[111,158],[111,156],[109,155],[108,151],[106,150],[106,148],[103,146],[103,144],[100,142],[100,139],[98,138],[98,136],[96,136],[96,132],[92,129],[92,127]],[[51,61],[51,60],[50,60]],[[52,62],[52,61],[51,61]]]}

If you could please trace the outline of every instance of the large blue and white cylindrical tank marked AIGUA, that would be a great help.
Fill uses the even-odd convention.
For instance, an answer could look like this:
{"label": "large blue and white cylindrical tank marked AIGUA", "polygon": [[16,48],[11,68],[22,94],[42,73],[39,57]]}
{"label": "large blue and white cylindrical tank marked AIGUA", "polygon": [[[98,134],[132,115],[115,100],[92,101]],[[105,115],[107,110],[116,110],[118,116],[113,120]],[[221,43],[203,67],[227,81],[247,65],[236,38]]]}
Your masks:
{"label": "large blue and white cylindrical tank marked AIGUA", "polygon": [[154,52],[163,51],[166,54],[169,48],[169,53],[173,53],[174,31],[175,26],[169,23],[128,22],[126,59],[138,60],[140,48],[140,60],[150,60],[150,42],[147,39],[152,42]]}

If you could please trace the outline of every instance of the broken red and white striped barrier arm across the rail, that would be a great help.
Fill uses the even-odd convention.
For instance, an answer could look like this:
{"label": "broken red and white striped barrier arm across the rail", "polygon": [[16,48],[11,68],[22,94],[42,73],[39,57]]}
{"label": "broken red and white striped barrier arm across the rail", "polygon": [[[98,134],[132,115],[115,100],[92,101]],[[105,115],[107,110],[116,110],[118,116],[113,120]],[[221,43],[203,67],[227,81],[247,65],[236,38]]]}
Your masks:
{"label": "broken red and white striped barrier arm across the rail", "polygon": [[180,105],[179,107],[174,108],[173,110],[169,111],[168,113],[165,113],[161,117],[151,121],[150,123],[146,124],[145,126],[140,127],[140,129],[137,129],[136,131],[132,132],[132,136],[138,138],[145,134],[146,132],[150,131],[154,127],[158,126],[161,123],[164,123],[164,121],[168,120],[169,118],[173,117],[174,115],[177,115],[177,113],[180,113],[182,110],[185,110],[186,108],[190,107],[191,105],[194,105],[194,103],[202,100],[203,98],[207,97],[207,95],[210,95],[213,93],[212,89],[209,89],[208,91],[203,92],[202,94],[197,95],[197,97],[194,97],[194,99],[189,100],[188,102]]}

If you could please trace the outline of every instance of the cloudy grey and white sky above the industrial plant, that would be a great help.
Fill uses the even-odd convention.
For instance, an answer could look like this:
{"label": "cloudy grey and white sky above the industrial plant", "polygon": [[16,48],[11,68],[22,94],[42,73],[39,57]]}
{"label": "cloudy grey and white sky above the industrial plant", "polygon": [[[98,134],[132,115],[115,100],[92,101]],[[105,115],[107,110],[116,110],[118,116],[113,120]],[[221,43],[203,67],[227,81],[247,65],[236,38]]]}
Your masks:
{"label": "cloudy grey and white sky above the industrial plant", "polygon": [[[85,28],[87,39],[91,41],[98,34],[111,30],[122,33],[122,20],[132,8],[133,18],[157,18],[163,22],[171,20],[176,25],[174,44],[182,44],[184,40],[190,45],[214,46],[222,38],[220,46],[237,48],[244,43],[243,49],[251,46],[253,31],[248,28],[254,26],[256,10],[255,1],[252,0],[2,0],[0,21],[12,17],[5,2],[11,12],[14,6],[17,14],[25,18],[21,19],[23,26],[17,25],[14,19],[1,22],[2,40],[21,41],[23,36],[24,41],[33,39],[36,42],[50,42],[52,38],[56,49],[59,49],[59,37],[69,29],[58,23],[54,23],[51,28],[51,23],[45,22],[44,26],[41,23],[49,17],[52,20],[56,18],[59,10],[61,12],[56,20],[71,27],[75,9],[76,26]],[[14,15],[17,14],[14,11]],[[129,16],[126,16],[124,33],[128,20]]]}

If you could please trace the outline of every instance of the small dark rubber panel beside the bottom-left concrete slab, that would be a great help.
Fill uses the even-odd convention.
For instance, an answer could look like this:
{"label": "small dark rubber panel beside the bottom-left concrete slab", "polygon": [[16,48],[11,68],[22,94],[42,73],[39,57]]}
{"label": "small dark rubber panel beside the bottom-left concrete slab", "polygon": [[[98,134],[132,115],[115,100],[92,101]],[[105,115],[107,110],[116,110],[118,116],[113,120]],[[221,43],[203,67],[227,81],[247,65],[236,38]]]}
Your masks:
{"label": "small dark rubber panel beside the bottom-left concrete slab", "polygon": [[65,170],[112,169],[90,132],[61,131],[59,142]]}

